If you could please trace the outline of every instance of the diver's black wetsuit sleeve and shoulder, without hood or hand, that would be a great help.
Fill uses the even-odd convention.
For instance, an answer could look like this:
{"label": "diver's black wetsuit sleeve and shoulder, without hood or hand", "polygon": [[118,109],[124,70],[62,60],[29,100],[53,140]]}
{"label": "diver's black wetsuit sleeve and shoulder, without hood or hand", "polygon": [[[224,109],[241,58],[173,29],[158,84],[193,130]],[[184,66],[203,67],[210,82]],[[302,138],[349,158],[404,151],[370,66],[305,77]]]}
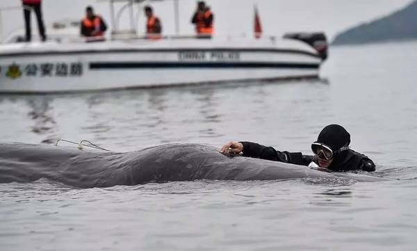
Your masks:
{"label": "diver's black wetsuit sleeve and shoulder, without hood or hand", "polygon": [[[256,143],[240,143],[243,144],[243,156],[267,159],[269,161],[281,161],[295,165],[309,165],[312,161],[317,163],[316,156],[303,155],[301,152],[279,152],[273,147],[265,147]],[[332,164],[327,169],[335,172],[350,170],[373,172],[375,171],[375,164],[367,156],[348,149],[335,155]]]}

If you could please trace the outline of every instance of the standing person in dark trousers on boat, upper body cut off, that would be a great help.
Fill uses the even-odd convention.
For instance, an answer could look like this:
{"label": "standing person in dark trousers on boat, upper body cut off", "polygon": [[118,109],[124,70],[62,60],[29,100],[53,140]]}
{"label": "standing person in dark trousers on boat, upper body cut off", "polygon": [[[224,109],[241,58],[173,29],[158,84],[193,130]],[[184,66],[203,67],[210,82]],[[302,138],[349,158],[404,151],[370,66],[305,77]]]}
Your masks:
{"label": "standing person in dark trousers on boat, upper body cut off", "polygon": [[47,40],[47,35],[45,35],[45,26],[42,19],[42,8],[40,6],[41,0],[22,0],[22,3],[24,6],[23,13],[26,28],[26,42],[31,41],[32,38],[31,10],[35,11],[36,19],[38,20],[40,39],[42,41]]}

